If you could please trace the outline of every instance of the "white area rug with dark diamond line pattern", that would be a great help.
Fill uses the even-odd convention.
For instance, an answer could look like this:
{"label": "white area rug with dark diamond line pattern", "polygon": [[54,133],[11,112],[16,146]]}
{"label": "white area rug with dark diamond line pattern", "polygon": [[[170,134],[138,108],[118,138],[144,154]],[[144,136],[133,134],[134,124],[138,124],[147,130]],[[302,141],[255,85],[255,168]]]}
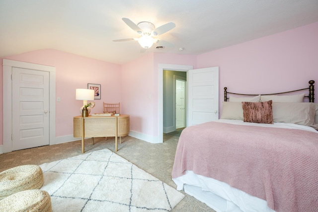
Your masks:
{"label": "white area rug with dark diamond line pattern", "polygon": [[53,212],[168,212],[184,197],[109,149],[40,167]]}

